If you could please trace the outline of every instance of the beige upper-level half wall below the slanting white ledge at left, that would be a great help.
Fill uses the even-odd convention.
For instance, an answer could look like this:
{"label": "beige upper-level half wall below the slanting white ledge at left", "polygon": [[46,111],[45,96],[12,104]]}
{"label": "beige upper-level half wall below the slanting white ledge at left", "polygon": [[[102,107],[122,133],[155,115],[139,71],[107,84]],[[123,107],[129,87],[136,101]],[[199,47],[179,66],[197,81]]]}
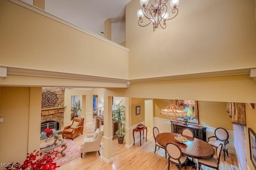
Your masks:
{"label": "beige upper-level half wall below the slanting white ledge at left", "polygon": [[0,16],[0,65],[128,79],[124,49],[6,0]]}

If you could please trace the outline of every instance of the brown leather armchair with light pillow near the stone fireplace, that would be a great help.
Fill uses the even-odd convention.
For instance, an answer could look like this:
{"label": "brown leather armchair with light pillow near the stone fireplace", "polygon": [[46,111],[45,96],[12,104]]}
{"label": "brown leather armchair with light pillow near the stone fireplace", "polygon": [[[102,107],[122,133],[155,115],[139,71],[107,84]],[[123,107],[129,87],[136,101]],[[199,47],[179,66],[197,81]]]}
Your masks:
{"label": "brown leather armchair with light pillow near the stone fireplace", "polygon": [[78,136],[79,134],[83,134],[84,131],[84,118],[75,117],[73,119],[72,125],[68,125],[64,127],[62,131],[62,137],[71,138]]}

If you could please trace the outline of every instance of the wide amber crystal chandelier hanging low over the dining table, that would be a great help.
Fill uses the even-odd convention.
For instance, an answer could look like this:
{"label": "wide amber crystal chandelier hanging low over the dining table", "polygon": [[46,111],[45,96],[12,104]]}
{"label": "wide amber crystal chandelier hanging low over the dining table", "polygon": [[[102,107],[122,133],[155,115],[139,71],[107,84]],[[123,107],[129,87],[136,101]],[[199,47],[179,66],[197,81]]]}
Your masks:
{"label": "wide amber crystal chandelier hanging low over the dining table", "polygon": [[161,109],[160,114],[174,120],[176,120],[177,117],[187,117],[187,111],[180,110],[180,108],[174,104],[173,100],[171,100],[170,105],[167,106],[166,109]]}

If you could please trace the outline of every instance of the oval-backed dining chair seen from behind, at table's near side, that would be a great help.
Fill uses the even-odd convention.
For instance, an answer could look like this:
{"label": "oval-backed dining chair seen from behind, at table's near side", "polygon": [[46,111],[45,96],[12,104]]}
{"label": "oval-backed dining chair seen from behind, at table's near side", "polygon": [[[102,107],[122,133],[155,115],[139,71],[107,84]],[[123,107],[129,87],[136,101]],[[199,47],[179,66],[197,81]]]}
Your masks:
{"label": "oval-backed dining chair seen from behind, at table's near side", "polygon": [[170,163],[174,163],[179,166],[178,169],[181,169],[181,166],[185,164],[185,169],[187,169],[187,157],[182,156],[181,149],[178,145],[174,143],[166,144],[166,151],[169,155],[168,158],[168,170],[170,170]]}

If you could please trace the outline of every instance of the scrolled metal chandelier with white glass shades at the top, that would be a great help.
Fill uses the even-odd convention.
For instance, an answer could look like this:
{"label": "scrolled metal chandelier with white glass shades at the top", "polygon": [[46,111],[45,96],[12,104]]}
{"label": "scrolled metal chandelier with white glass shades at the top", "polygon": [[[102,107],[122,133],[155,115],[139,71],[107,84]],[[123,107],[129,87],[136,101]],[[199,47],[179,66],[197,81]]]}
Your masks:
{"label": "scrolled metal chandelier with white glass shades at the top", "polygon": [[[180,0],[170,0],[170,6],[173,8],[171,13],[174,15],[169,18],[169,13],[167,12],[167,2],[169,0],[140,0],[140,5],[142,6],[141,9],[137,11],[137,16],[139,18],[138,24],[139,26],[148,26],[148,24],[153,24],[153,31],[156,28],[162,27],[163,29],[166,28],[166,20],[171,20],[175,18],[178,14],[177,6]],[[146,17],[148,23],[143,21],[143,17]],[[144,22],[144,23],[143,23]]]}

